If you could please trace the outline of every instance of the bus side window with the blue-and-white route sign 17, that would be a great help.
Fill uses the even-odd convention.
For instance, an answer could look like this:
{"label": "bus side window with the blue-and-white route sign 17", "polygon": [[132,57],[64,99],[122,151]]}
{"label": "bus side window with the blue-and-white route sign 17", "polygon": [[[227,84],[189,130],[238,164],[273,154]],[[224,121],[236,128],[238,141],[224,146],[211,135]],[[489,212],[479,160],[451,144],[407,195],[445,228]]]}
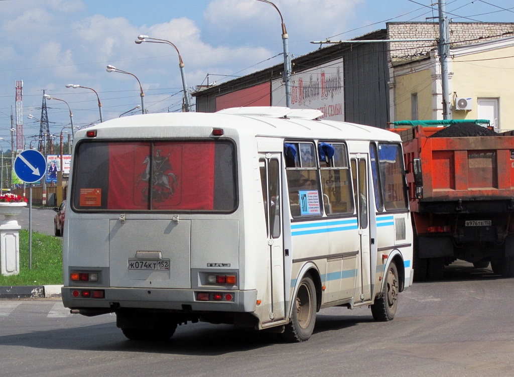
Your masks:
{"label": "bus side window with the blue-and-white route sign 17", "polygon": [[321,216],[322,201],[314,143],[286,142],[284,155],[292,217]]}

